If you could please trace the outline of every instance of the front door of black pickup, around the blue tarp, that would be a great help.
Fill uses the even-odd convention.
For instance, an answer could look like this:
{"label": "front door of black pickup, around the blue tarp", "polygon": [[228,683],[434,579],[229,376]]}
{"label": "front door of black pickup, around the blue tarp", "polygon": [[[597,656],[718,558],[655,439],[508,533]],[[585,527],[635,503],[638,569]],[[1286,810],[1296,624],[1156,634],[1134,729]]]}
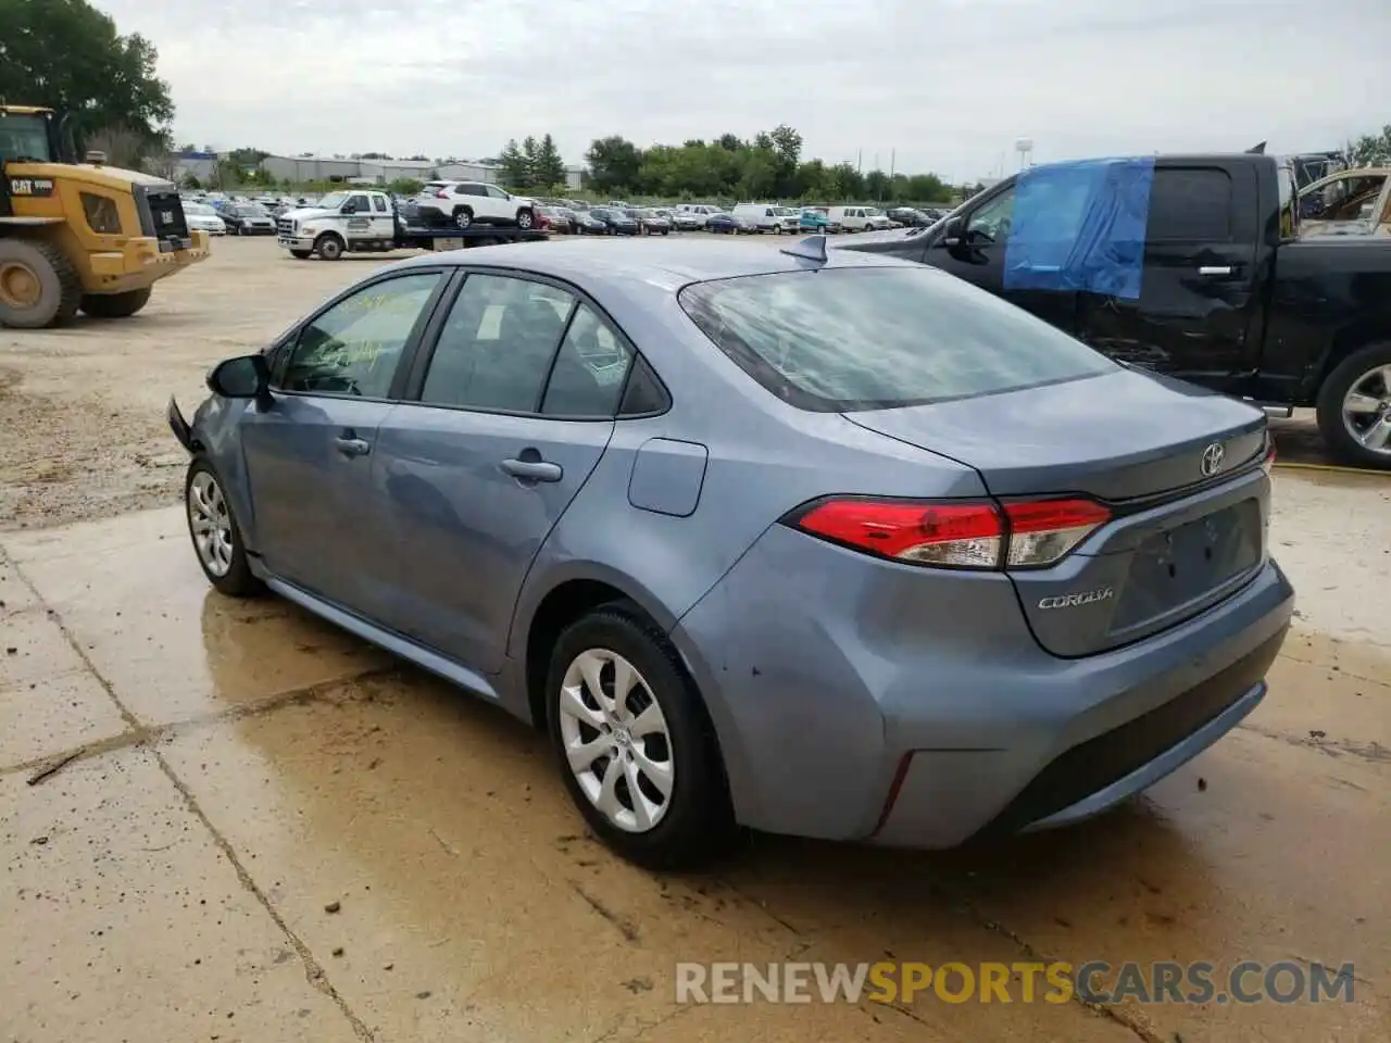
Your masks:
{"label": "front door of black pickup, around the blue tarp", "polygon": [[[1078,332],[1079,295],[1053,289],[1006,289],[1004,260],[1010,246],[1015,185],[1010,184],[961,216],[957,235],[926,239],[922,260],[957,278],[1002,296],[1067,334]],[[911,239],[903,241],[906,245]],[[915,248],[908,248],[915,249]]]}

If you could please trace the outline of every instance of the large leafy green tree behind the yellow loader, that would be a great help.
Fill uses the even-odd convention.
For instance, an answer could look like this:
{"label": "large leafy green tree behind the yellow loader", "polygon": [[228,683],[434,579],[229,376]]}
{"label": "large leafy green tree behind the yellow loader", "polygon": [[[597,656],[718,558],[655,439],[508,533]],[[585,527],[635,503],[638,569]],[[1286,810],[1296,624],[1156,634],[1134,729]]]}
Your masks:
{"label": "large leafy green tree behind the yellow loader", "polygon": [[107,128],[157,145],[174,103],[154,60],[149,40],[121,36],[86,0],[0,0],[0,97],[71,113],[88,147]]}

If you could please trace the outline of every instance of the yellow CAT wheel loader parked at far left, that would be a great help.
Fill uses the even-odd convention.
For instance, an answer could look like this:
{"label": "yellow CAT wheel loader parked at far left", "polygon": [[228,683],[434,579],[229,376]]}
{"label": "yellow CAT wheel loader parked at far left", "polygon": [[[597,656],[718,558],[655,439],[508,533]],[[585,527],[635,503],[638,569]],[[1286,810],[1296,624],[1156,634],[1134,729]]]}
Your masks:
{"label": "yellow CAT wheel loader parked at far left", "polygon": [[171,182],[97,153],[77,163],[53,110],[0,104],[0,325],[134,316],[156,281],[207,253]]}

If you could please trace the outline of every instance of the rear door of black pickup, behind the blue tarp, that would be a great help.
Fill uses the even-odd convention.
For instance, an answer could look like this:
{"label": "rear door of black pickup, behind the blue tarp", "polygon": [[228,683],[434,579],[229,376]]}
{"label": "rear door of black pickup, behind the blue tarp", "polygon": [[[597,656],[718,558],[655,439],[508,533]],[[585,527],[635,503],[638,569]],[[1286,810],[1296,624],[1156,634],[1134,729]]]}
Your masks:
{"label": "rear door of black pickup, behind the blue tarp", "polygon": [[[1160,163],[1149,196],[1135,300],[1086,293],[1082,339],[1131,364],[1238,391],[1259,363],[1248,328],[1259,306],[1263,236],[1251,163]],[[1238,207],[1237,200],[1251,200]],[[1256,338],[1259,339],[1259,338]]]}

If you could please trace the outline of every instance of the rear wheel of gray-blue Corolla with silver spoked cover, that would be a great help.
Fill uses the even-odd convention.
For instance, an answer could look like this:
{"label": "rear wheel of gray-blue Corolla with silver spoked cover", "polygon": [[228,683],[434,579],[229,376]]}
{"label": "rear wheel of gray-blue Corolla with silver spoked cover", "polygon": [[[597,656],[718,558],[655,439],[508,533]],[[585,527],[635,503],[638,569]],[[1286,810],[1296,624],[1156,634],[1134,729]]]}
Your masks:
{"label": "rear wheel of gray-blue Corolla with silver spoked cover", "polygon": [[[584,658],[608,659],[598,672],[609,686],[605,694],[612,694],[615,658],[636,670],[638,680],[623,711],[618,711],[625,725],[619,730],[606,723],[595,726],[601,704],[588,694],[587,683],[580,683],[581,704],[563,697],[566,681],[583,677],[579,662]],[[555,642],[545,691],[561,776],[574,805],[605,844],[648,869],[687,869],[726,850],[736,826],[714,727],[680,656],[661,630],[622,602],[590,612]],[[579,713],[566,712],[562,705],[576,705]],[[654,722],[658,730],[629,738],[632,725],[652,705],[658,711]],[[588,768],[577,773],[569,751],[594,741],[609,744],[613,752],[591,757]],[[652,768],[669,766],[665,798],[651,782],[659,776],[638,766],[644,755]],[[609,794],[606,812],[597,801],[605,800],[601,776],[611,770],[618,772],[619,783]],[[586,779],[583,786],[580,777]],[[641,802],[629,789],[629,779],[637,780],[638,793],[644,794]],[[638,818],[640,805],[650,809],[647,823]]]}

